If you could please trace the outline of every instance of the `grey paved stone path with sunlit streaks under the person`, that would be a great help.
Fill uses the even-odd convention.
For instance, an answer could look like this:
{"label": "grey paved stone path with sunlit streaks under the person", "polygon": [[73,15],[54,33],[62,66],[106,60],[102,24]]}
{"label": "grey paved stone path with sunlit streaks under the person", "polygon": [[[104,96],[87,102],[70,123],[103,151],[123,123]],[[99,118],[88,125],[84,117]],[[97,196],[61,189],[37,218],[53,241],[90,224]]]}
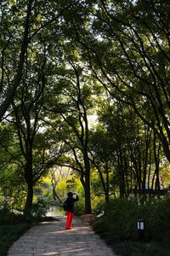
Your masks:
{"label": "grey paved stone path with sunlit streaks under the person", "polygon": [[65,217],[32,226],[14,245],[8,256],[116,256],[88,224],[75,218],[72,230],[65,230]]}

